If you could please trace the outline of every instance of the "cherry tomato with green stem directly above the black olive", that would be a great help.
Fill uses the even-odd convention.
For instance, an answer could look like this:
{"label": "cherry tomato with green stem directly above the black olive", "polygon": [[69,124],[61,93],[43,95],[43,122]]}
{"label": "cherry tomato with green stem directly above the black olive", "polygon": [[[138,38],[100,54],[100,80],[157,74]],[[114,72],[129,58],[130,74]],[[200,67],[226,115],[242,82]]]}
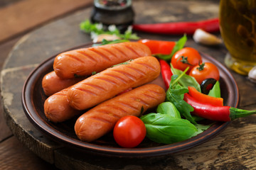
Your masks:
{"label": "cherry tomato with green stem directly above the black olive", "polygon": [[189,72],[188,75],[194,77],[196,81],[198,81],[198,84],[201,84],[205,79],[212,78],[217,81],[220,79],[220,73],[218,71],[218,68],[210,62],[198,64],[191,69],[191,72]]}

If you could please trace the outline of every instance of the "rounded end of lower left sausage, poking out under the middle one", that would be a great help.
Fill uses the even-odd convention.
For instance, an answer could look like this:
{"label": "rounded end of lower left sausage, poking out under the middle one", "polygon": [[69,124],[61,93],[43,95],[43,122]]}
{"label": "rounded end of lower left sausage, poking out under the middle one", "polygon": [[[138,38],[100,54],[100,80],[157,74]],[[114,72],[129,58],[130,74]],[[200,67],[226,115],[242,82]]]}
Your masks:
{"label": "rounded end of lower left sausage, poking out under the middle one", "polygon": [[53,123],[63,122],[80,113],[68,104],[67,93],[68,88],[63,89],[48,97],[44,103],[46,118]]}

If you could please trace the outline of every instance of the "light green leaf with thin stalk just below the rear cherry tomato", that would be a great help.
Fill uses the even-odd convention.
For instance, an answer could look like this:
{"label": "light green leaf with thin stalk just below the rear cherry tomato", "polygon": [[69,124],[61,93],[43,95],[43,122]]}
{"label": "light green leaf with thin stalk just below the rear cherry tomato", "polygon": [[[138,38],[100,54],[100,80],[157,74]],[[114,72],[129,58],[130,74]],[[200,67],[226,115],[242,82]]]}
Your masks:
{"label": "light green leaf with thin stalk just below the rear cherry tomato", "polygon": [[[171,72],[176,75],[181,75],[183,72],[179,69],[174,69],[174,67],[171,64]],[[201,92],[200,84],[198,84],[198,81],[196,81],[195,78],[189,76],[188,74],[184,74],[181,79],[178,80],[178,84],[181,84],[181,86],[188,88],[188,86],[193,86],[196,88],[196,90]]]}

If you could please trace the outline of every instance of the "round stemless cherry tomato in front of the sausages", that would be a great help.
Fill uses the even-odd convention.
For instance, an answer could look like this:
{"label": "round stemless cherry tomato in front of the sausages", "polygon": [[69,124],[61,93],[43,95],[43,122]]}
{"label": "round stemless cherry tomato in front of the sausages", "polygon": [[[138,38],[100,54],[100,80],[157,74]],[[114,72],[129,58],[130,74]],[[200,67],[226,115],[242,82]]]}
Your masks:
{"label": "round stemless cherry tomato in front of the sausages", "polygon": [[137,147],[146,136],[146,127],[142,120],[134,115],[120,118],[114,125],[114,140],[121,147]]}

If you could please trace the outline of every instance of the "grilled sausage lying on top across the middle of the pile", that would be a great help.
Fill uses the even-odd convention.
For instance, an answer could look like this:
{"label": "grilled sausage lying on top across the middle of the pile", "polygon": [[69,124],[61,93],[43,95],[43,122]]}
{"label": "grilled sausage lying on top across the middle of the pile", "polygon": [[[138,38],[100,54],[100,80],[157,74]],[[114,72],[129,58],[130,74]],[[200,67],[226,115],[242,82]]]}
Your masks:
{"label": "grilled sausage lying on top across the middle of the pile", "polygon": [[126,89],[153,81],[159,74],[160,65],[155,57],[139,57],[73,85],[68,90],[68,101],[73,108],[85,110]]}

